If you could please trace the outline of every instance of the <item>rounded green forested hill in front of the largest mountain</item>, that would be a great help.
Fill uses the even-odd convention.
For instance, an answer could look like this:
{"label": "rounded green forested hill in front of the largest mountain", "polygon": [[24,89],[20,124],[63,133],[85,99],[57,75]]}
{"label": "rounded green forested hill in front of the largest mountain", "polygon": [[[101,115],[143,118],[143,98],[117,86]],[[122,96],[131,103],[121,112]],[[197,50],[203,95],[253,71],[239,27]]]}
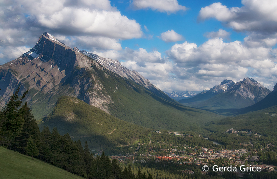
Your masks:
{"label": "rounded green forested hill in front of the largest mountain", "polygon": [[60,134],[89,141],[90,147],[128,145],[146,137],[151,129],[122,121],[74,97],[60,97],[53,112],[39,126],[57,127]]}

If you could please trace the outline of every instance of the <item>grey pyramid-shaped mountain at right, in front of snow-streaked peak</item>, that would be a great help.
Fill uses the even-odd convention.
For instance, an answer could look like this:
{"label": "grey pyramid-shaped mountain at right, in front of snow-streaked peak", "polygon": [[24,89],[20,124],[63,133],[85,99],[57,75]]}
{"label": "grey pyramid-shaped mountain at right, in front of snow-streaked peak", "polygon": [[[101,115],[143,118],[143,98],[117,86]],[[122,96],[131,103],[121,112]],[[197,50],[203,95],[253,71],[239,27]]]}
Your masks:
{"label": "grey pyramid-shaped mountain at right, in front of snow-streaked peak", "polygon": [[244,78],[222,93],[191,106],[210,110],[239,109],[261,101],[270,92],[254,79]]}

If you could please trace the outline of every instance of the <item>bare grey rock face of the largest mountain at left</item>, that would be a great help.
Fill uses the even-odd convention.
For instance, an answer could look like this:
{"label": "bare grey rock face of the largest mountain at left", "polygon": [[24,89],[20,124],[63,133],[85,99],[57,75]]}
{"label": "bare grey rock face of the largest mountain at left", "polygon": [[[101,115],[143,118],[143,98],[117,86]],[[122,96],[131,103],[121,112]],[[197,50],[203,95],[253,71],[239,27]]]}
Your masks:
{"label": "bare grey rock face of the largest mountain at left", "polygon": [[0,66],[0,107],[5,105],[18,85],[22,85],[20,93],[29,89],[26,100],[31,105],[43,103],[43,106],[51,107],[56,102],[51,98],[66,95],[78,97],[109,113],[107,104],[113,102],[101,90],[98,76],[94,73],[84,76],[96,69],[104,68],[79,51],[65,46],[51,34],[44,33],[30,51]]}

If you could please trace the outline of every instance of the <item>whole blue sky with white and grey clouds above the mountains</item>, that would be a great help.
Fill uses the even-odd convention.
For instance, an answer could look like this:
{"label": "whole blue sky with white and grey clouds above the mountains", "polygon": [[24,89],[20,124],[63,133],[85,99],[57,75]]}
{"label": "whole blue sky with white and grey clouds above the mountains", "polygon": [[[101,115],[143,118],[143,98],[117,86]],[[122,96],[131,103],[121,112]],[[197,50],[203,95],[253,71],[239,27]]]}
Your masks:
{"label": "whole blue sky with white and grey clouds above the mountains", "polygon": [[225,78],[277,82],[276,0],[4,0],[0,64],[44,32],[118,59],[163,91],[202,91]]}

